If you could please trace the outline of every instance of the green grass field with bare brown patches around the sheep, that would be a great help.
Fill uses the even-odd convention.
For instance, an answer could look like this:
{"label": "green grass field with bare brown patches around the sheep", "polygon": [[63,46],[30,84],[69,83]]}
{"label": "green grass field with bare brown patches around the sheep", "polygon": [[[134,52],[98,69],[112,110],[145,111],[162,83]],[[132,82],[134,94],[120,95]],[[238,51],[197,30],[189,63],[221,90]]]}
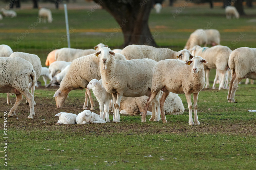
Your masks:
{"label": "green grass field with bare brown patches around the sheep", "polygon": [[[227,20],[224,9],[206,6],[187,6],[178,16],[172,14],[179,7],[163,8],[161,14],[152,11],[149,25],[160,31],[155,41],[159,46],[181,50],[189,34],[195,29],[218,29],[221,44],[236,49],[255,47],[255,9],[245,8],[248,14],[239,20]],[[35,26],[38,10],[18,10],[17,18],[0,21],[0,44],[7,44],[13,51],[37,54],[45,66],[47,53],[54,48],[67,47],[65,20],[62,10],[52,10],[52,24]],[[72,48],[92,48],[102,42],[118,27],[104,10],[95,10],[91,16],[86,10],[69,10],[69,27]],[[83,17],[78,17],[83,16]],[[29,29],[34,24],[35,28]],[[13,43],[29,31],[18,44]],[[243,34],[244,37],[239,36]],[[238,39],[239,38],[239,41]],[[234,40],[237,41],[234,42]],[[107,45],[120,47],[121,30],[115,33]],[[210,73],[210,87],[215,70]],[[40,79],[41,82],[42,79]],[[218,85],[217,85],[218,87]],[[25,99],[16,110],[17,115],[8,119],[8,167],[4,166],[4,145],[1,146],[1,169],[255,169],[256,167],[256,86],[239,85],[235,99],[227,102],[227,90],[204,89],[198,98],[199,126],[189,126],[188,106],[184,94],[180,94],[185,112],[183,115],[167,115],[167,124],[148,121],[141,123],[140,116],[121,115],[119,124],[61,125],[55,126],[56,113],[66,111],[78,114],[82,111],[84,91],[73,90],[62,109],[57,109],[53,97],[57,88],[35,90],[35,116],[28,119],[29,107]],[[96,104],[95,113],[99,112]],[[4,131],[3,113],[12,106],[6,104],[6,94],[0,94],[1,132]],[[193,100],[193,98],[192,98]],[[15,97],[11,96],[12,103]],[[18,119],[17,119],[18,118]],[[113,114],[110,114],[113,120]],[[4,132],[3,132],[4,133]],[[1,133],[1,134],[3,134]],[[2,135],[4,136],[4,135]],[[3,139],[3,138],[2,138]]]}

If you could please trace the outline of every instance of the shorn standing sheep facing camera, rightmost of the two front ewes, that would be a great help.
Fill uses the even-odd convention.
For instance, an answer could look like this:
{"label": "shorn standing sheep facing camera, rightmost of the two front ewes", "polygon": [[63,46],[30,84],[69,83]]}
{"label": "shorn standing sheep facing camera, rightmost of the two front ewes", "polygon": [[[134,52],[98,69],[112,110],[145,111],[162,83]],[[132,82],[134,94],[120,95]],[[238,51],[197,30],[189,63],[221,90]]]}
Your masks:
{"label": "shorn standing sheep facing camera, rightmost of the two front ewes", "polygon": [[[191,64],[192,63],[192,64]],[[205,86],[204,65],[207,61],[200,56],[184,62],[180,60],[167,59],[159,61],[153,68],[152,89],[150,98],[147,100],[141,122],[146,122],[146,112],[152,100],[162,90],[164,93],[160,99],[160,110],[163,123],[167,123],[164,113],[164,103],[170,92],[185,93],[189,109],[189,125],[194,125],[192,118],[191,93],[194,95],[195,125],[200,125],[197,117],[197,98],[199,92]],[[178,71],[178,73],[177,73]],[[186,74],[184,74],[186,73]]]}

